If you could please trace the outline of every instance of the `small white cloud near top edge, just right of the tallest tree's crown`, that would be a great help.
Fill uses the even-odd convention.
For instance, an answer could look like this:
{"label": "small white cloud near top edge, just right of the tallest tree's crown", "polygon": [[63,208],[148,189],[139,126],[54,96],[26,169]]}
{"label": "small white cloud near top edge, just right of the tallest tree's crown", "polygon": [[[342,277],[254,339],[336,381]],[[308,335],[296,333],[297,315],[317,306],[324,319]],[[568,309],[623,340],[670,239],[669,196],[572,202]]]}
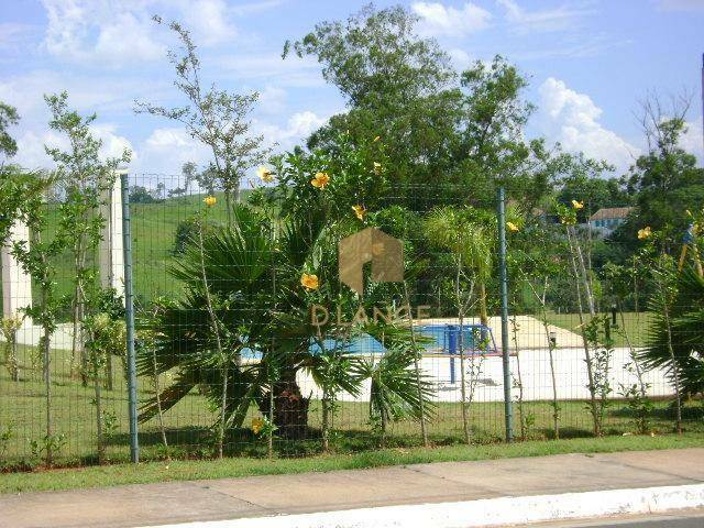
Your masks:
{"label": "small white cloud near top edge, just right of the tallest tree's crown", "polygon": [[411,9],[421,18],[421,32],[429,35],[464,36],[487,28],[492,19],[492,13],[472,2],[462,9],[439,2],[415,2]]}

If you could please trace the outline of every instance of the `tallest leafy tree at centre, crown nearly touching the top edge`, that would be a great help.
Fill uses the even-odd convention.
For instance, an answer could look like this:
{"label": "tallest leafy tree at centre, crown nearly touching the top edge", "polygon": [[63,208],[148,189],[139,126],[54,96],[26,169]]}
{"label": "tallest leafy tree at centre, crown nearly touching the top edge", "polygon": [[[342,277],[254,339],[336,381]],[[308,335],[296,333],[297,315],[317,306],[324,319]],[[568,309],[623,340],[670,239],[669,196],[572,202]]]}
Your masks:
{"label": "tallest leafy tree at centre, crown nearly touching the top edge", "polygon": [[415,189],[444,182],[451,170],[449,145],[454,134],[459,91],[449,56],[432,38],[420,38],[418,18],[403,7],[363,8],[346,21],[322,22],[293,44],[299,57],[312,56],[323,78],[337,86],[349,110],[314,133],[310,148],[329,154],[349,133],[362,145],[378,138],[388,156],[389,196],[410,209],[430,207]]}

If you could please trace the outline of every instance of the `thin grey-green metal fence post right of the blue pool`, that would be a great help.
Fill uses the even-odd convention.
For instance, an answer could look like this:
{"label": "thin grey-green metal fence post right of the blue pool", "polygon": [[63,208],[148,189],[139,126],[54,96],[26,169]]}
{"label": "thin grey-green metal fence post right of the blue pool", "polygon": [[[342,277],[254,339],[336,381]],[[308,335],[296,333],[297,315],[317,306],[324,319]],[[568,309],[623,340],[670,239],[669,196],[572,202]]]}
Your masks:
{"label": "thin grey-green metal fence post right of the blue pool", "polygon": [[502,360],[504,367],[504,418],[506,441],[514,439],[514,409],[510,397],[510,362],[508,350],[508,277],[506,273],[506,193],[498,188],[498,268],[502,286]]}

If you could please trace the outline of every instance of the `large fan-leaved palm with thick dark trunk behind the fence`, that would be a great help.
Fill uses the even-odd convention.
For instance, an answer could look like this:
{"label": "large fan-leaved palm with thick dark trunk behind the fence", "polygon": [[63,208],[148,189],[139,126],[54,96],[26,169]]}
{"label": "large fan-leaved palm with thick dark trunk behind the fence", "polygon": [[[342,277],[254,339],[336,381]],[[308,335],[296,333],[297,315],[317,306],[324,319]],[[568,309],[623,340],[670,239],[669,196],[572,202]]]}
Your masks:
{"label": "large fan-leaved palm with thick dark trunk behind the fence", "polygon": [[[298,372],[311,374],[326,393],[326,405],[340,391],[359,394],[364,380],[361,358],[348,352],[354,336],[333,324],[321,329],[310,317],[311,302],[334,302],[348,318],[359,307],[337,278],[339,233],[322,211],[272,219],[235,205],[232,218],[231,224],[189,241],[169,271],[183,282],[184,294],[161,302],[143,322],[155,338],[138,355],[139,373],[172,372],[175,380],[143,405],[141,419],[167,411],[199,387],[220,410],[220,431],[241,427],[254,404],[272,416],[277,435],[304,438],[309,398],[298,385]],[[306,272],[317,275],[319,287],[301,286]],[[340,339],[340,346],[324,346],[330,336]],[[394,344],[403,348],[400,340]],[[251,351],[261,360],[249,360]],[[404,393],[400,399],[410,398],[413,407],[417,394]]]}

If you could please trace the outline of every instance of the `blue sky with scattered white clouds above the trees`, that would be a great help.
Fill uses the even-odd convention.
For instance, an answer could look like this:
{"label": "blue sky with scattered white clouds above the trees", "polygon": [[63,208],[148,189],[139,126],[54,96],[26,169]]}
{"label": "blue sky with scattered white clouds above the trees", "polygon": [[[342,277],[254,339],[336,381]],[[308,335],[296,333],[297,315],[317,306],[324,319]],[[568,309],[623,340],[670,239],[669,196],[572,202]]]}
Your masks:
{"label": "blue sky with scattered white clouds above the trees", "polygon": [[[105,155],[132,151],[129,169],[178,174],[205,166],[207,148],[183,127],[135,114],[134,101],[179,106],[166,51],[177,43],[153,14],[191,30],[202,80],[233,92],[258,91],[252,129],[275,151],[299,144],[344,101],[315,59],[282,59],[286,40],[317,22],[341,20],[364,1],[321,0],[2,0],[0,100],[22,118],[11,133],[15,162],[51,167],[44,145],[62,145],[47,127],[43,95],[67,90],[69,105],[97,113]],[[473,0],[402,3],[418,31],[452,57],[458,70],[501,54],[529,79],[536,105],[527,135],[603,158],[623,174],[642,153],[639,101],[656,92],[692,105],[682,146],[704,160],[702,53],[704,0]]]}

